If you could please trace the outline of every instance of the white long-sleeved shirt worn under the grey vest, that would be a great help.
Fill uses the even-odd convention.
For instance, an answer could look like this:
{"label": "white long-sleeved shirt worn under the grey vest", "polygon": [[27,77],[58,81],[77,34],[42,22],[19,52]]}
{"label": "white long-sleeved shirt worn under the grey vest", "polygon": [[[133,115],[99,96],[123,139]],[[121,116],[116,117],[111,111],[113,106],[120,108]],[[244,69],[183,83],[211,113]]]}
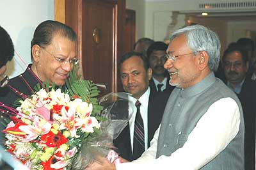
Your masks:
{"label": "white long-sleeved shirt worn under the grey vest", "polygon": [[150,148],[134,162],[116,164],[117,170],[131,169],[200,169],[218,155],[239,131],[239,107],[232,98],[214,102],[188,136],[188,141],[169,157],[156,159],[159,129]]}

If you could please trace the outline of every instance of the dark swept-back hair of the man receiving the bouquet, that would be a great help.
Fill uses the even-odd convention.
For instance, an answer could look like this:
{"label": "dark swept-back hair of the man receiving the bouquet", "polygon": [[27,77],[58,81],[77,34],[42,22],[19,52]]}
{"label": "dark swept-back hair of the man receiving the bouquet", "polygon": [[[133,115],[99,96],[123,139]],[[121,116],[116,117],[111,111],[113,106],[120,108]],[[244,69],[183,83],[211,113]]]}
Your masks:
{"label": "dark swept-back hair of the man receiving the bouquet", "polygon": [[[31,40],[31,51],[33,45],[35,44],[39,45],[40,47],[50,45],[52,38],[57,34],[68,38],[72,42],[76,42],[77,40],[76,33],[71,27],[56,20],[45,20],[44,22],[41,22],[35,29],[33,39]],[[32,52],[31,58],[33,58]]]}

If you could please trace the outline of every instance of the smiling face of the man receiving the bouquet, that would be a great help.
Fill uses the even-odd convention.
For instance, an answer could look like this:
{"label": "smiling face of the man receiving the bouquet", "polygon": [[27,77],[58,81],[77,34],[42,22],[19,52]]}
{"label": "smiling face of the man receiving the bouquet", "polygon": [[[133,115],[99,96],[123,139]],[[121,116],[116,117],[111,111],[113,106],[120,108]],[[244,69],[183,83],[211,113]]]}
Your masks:
{"label": "smiling face of the man receiving the bouquet", "polygon": [[49,80],[50,84],[55,82],[62,86],[67,79],[68,73],[72,70],[70,63],[60,63],[57,58],[64,58],[67,61],[76,58],[76,42],[70,41],[61,35],[55,35],[50,45],[32,48],[33,65],[32,70],[41,81]]}

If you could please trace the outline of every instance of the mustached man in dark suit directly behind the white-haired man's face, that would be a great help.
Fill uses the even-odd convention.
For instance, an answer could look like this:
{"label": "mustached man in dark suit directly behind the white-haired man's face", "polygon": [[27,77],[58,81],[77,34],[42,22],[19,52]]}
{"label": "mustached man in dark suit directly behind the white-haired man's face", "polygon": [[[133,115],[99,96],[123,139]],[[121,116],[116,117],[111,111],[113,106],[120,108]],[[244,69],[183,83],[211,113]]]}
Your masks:
{"label": "mustached man in dark suit directly behind the white-haired man's face", "polygon": [[162,95],[161,100],[166,103],[174,86],[169,84],[170,76],[164,69],[165,54],[168,45],[164,42],[154,42],[148,47],[147,57],[152,68],[152,79],[149,81],[150,90],[156,95]]}

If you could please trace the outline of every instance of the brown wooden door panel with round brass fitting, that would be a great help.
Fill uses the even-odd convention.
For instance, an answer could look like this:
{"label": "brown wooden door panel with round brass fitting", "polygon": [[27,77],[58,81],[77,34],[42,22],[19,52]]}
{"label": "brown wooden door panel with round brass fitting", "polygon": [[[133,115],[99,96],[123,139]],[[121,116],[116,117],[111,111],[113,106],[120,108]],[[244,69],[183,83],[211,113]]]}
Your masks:
{"label": "brown wooden door panel with round brass fitting", "polygon": [[[84,1],[82,8],[82,66],[85,79],[106,84],[107,91],[113,89],[115,54],[115,4],[103,1]],[[99,42],[93,40],[99,35]],[[114,31],[113,31],[114,30]]]}

